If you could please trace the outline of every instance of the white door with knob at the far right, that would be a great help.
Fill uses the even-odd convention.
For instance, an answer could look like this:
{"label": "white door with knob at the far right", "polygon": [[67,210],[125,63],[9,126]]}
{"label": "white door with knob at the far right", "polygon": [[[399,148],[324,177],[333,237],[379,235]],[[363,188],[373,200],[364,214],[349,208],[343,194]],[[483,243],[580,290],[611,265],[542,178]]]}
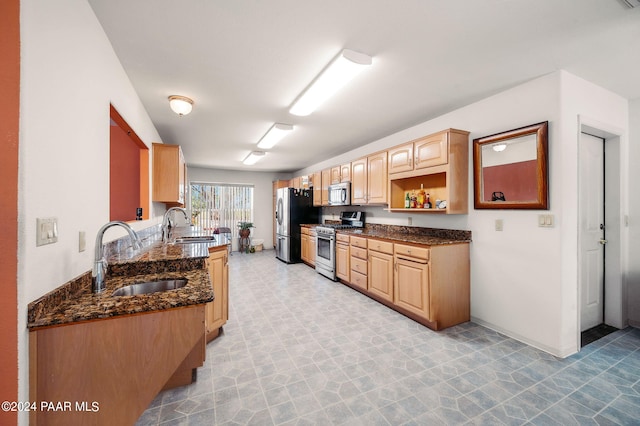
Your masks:
{"label": "white door with knob at the far right", "polygon": [[603,323],[604,140],[580,134],[580,331]]}

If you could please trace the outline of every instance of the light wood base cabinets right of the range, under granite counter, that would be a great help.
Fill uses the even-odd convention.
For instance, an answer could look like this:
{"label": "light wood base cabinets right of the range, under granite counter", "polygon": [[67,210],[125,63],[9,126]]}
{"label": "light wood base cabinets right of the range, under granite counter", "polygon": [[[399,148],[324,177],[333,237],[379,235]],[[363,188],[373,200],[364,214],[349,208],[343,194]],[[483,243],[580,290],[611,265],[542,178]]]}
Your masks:
{"label": "light wood base cabinets right of the range, under granite counter", "polygon": [[[338,276],[342,282],[433,330],[471,319],[467,242],[427,246],[362,236],[350,242],[350,274]],[[336,244],[336,262],[340,250]]]}

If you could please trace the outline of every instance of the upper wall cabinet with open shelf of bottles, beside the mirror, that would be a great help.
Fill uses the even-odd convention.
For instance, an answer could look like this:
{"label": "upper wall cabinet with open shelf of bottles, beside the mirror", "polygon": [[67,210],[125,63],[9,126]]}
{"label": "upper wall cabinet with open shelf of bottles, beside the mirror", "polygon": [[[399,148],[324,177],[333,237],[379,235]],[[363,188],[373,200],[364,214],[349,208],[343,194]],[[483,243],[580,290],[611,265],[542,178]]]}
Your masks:
{"label": "upper wall cabinet with open shelf of bottles, beside the mirror", "polygon": [[[389,210],[466,214],[469,132],[448,129],[388,150]],[[406,201],[424,190],[430,208]],[[426,201],[426,200],[425,200]],[[444,203],[443,203],[444,202]]]}

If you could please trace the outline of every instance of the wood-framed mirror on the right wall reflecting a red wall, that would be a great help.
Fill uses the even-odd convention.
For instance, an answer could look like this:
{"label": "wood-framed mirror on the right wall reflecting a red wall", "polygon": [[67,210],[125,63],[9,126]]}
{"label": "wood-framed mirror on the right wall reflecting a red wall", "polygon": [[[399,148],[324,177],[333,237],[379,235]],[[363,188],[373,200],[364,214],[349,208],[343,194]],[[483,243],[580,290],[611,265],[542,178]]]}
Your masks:
{"label": "wood-framed mirror on the right wall reflecting a red wall", "polygon": [[476,209],[548,210],[549,122],[473,140]]}

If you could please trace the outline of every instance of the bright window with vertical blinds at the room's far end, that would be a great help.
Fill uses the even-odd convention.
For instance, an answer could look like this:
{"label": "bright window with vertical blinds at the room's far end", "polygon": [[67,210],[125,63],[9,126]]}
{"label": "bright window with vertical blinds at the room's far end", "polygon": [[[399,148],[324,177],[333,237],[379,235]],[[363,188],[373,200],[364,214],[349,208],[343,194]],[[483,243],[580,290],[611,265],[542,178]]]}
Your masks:
{"label": "bright window with vertical blinds at the room's far end", "polygon": [[191,223],[205,230],[230,228],[238,236],[238,222],[253,222],[253,185],[191,182]]}

